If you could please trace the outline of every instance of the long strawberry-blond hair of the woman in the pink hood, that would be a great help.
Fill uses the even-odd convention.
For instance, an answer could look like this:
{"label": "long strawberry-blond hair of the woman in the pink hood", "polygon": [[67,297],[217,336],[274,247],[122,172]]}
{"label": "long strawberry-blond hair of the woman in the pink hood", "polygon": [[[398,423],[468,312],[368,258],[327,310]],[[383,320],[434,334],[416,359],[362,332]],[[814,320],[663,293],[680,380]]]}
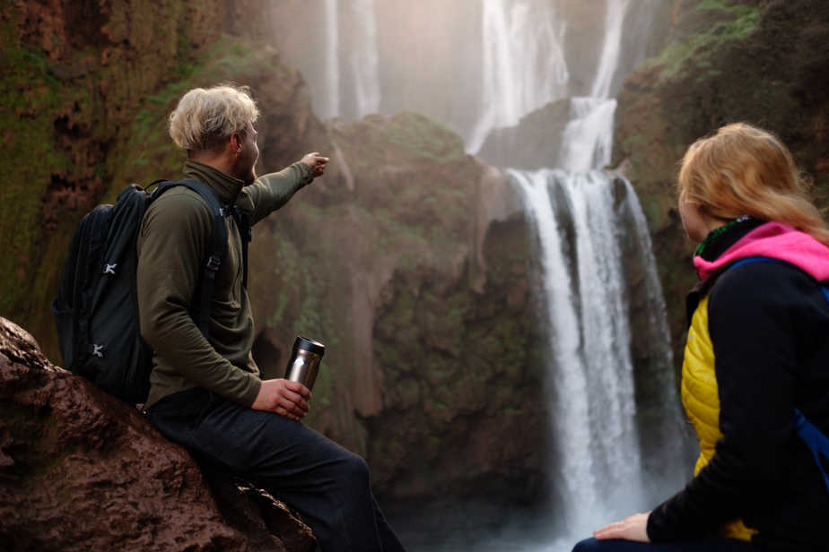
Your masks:
{"label": "long strawberry-blond hair of the woman in the pink hood", "polygon": [[809,199],[811,184],[776,136],[735,123],[691,144],[676,188],[683,201],[716,219],[774,220],[829,246],[829,229]]}

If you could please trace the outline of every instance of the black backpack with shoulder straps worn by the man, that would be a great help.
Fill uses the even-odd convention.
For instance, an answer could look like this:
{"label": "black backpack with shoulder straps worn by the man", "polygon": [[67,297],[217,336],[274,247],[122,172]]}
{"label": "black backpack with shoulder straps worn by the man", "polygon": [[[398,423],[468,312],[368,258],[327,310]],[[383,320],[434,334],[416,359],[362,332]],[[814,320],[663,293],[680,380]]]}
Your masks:
{"label": "black backpack with shoulder straps worn by the man", "polygon": [[[158,186],[151,193],[153,185]],[[240,229],[246,286],[250,225],[233,206],[222,205],[210,186],[196,180],[159,180],[147,190],[129,185],[115,205],[99,205],[87,213],[69,246],[52,304],[65,367],[127,402],[146,401],[153,369],[153,350],[141,338],[138,322],[138,229],[150,203],[175,186],[199,194],[214,215],[213,236],[190,305],[190,315],[208,339],[215,275],[227,251],[224,219],[233,216]]]}

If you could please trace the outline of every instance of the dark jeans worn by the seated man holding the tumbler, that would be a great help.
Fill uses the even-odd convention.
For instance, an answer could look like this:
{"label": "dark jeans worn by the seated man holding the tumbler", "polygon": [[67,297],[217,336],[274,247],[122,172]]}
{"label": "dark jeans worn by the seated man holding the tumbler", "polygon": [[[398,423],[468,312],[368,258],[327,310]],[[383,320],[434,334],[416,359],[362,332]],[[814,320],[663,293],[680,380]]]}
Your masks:
{"label": "dark jeans worn by the seated man holding the tumbler", "polygon": [[403,552],[365,461],[301,422],[191,389],[147,412],[163,436],[264,487],[299,512],[323,552]]}

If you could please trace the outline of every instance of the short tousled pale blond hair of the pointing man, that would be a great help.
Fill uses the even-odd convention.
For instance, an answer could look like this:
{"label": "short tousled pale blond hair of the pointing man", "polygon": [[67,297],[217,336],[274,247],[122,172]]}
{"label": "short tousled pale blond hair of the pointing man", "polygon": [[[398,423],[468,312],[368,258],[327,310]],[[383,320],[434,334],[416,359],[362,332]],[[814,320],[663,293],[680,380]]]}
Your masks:
{"label": "short tousled pale blond hair of the pointing man", "polygon": [[195,88],[170,113],[170,137],[187,151],[213,150],[257,120],[259,110],[247,86],[221,84]]}

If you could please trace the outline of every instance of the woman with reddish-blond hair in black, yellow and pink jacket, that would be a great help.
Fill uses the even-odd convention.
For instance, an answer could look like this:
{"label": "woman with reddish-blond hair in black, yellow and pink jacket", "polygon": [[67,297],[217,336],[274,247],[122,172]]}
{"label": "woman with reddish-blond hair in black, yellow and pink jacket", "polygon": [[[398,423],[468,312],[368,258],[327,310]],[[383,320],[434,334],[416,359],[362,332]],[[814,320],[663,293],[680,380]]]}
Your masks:
{"label": "woman with reddish-blond hair in black, yellow and pink jacket", "polygon": [[750,125],[685,153],[679,212],[701,242],[682,380],[694,479],[574,552],[829,550],[829,459],[795,429],[798,411],[829,436],[829,229],[807,188],[786,147]]}

